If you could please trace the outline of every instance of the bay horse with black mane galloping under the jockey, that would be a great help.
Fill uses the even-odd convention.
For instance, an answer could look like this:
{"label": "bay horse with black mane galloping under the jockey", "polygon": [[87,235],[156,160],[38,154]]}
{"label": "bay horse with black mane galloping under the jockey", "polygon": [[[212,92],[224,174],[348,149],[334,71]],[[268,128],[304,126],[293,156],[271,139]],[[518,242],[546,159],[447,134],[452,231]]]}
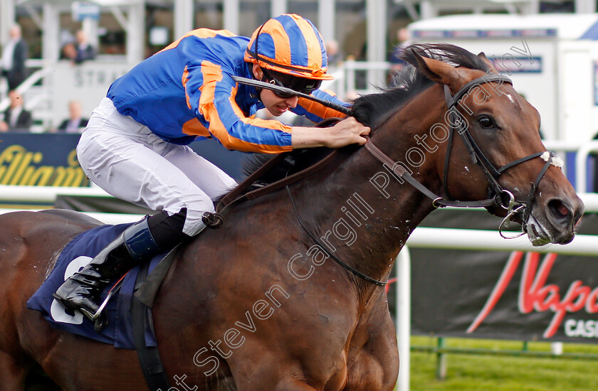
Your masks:
{"label": "bay horse with black mane galloping under the jockey", "polygon": [[[300,181],[229,205],[224,227],[177,250],[152,312],[171,391],[392,390],[399,357],[380,285],[438,206],[486,207],[535,245],[572,240],[583,204],[540,141],[537,110],[483,53],[413,45],[405,58],[397,88],[354,102],[374,129],[369,148],[337,150]],[[99,224],[0,216],[1,391],[23,390],[40,368],[62,390],[147,390],[135,351],[26,309],[61,249]]]}

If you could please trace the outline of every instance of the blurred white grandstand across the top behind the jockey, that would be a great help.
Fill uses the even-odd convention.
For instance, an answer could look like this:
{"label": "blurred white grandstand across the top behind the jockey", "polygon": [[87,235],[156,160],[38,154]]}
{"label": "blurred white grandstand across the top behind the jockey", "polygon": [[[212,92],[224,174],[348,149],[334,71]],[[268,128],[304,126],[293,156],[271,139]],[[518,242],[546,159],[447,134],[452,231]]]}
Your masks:
{"label": "blurred white grandstand across the top behind the jockey", "polygon": [[[330,85],[340,96],[385,85],[397,31],[412,21],[448,14],[594,12],[596,1],[505,0],[3,0],[0,43],[14,22],[29,46],[31,75],[19,88],[33,113],[33,132],[48,132],[68,117],[68,102],[80,100],[89,114],[107,86],[133,65],[193,28],[248,36],[270,16],[298,13],[314,21],[338,54]],[[373,22],[373,23],[372,23]],[[97,50],[95,60],[71,65],[61,50],[83,30]],[[348,63],[347,63],[348,60]],[[355,61],[355,63],[353,63]],[[9,105],[0,85],[0,112]]]}

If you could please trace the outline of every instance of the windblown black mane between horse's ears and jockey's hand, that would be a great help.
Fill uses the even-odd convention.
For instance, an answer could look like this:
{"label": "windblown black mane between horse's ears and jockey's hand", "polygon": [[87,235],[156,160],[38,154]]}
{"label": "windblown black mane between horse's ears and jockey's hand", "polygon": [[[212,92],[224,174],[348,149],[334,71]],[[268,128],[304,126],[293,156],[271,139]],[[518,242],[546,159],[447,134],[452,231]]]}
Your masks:
{"label": "windblown black mane between horse's ears and jockey's hand", "polygon": [[353,102],[353,112],[357,121],[373,127],[379,117],[396,109],[416,94],[430,87],[434,82],[417,70],[414,52],[427,58],[434,58],[452,65],[488,71],[488,65],[477,55],[448,43],[421,43],[407,46],[400,58],[405,65],[392,76],[392,85],[382,92],[363,95]]}

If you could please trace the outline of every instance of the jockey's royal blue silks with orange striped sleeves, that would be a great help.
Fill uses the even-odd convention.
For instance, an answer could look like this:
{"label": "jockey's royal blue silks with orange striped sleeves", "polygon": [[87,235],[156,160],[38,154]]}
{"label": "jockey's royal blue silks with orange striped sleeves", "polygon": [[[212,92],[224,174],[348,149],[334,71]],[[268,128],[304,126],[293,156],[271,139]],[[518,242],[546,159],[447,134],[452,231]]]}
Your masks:
{"label": "jockey's royal blue silks with orange striped sleeves", "polygon": [[[290,151],[292,128],[256,118],[263,108],[256,88],[231,78],[251,77],[252,64],[243,60],[248,41],[225,30],[191,31],[112,83],[107,97],[120,114],[174,144],[214,137],[227,149]],[[313,95],[346,105],[322,90]],[[292,111],[314,122],[344,117],[308,100],[300,100]]]}

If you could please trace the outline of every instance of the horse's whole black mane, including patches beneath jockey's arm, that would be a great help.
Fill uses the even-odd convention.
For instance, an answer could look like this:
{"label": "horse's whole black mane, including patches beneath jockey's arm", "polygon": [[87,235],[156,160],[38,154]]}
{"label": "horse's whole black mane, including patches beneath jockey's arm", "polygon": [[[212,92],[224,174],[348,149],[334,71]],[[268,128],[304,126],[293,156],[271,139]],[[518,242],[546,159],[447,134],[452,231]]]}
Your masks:
{"label": "horse's whole black mane, including patches beneath jockey's arm", "polygon": [[[448,43],[424,43],[409,45],[401,55],[407,65],[399,73],[393,75],[392,85],[389,88],[379,88],[380,92],[362,95],[352,102],[352,109],[357,121],[369,127],[374,127],[376,120],[385,117],[387,113],[397,109],[407,100],[417,95],[422,90],[434,84],[426,76],[419,73],[416,55],[418,53],[427,58],[434,58],[455,66],[470,69],[488,70],[488,65],[477,55],[468,50],[459,48]],[[355,151],[355,146],[346,146],[347,151]],[[289,173],[297,172],[315,164],[324,156],[330,153],[330,149],[296,149],[285,153],[285,158],[280,161],[270,172],[260,178],[252,188],[264,186],[284,178]],[[268,160],[272,159],[270,154],[256,154],[251,156],[243,165],[243,173],[251,175]],[[249,188],[248,190],[251,190]]]}

